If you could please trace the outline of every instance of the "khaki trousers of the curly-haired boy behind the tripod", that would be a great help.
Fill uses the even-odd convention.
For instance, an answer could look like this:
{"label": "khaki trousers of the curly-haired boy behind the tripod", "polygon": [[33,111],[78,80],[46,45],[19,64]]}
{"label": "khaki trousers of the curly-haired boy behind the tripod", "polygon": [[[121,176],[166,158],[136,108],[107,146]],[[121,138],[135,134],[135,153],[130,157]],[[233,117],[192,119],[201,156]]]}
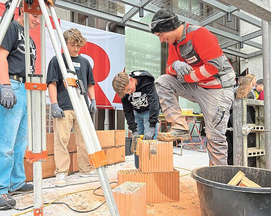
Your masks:
{"label": "khaki trousers of the curly-haired boy behind the tripod", "polygon": [[67,150],[70,131],[73,127],[77,149],[77,161],[80,173],[88,173],[92,170],[88,160],[88,154],[83,137],[73,110],[65,110],[64,118],[54,118],[54,151],[55,151],[55,175],[65,173],[68,175],[70,157]]}

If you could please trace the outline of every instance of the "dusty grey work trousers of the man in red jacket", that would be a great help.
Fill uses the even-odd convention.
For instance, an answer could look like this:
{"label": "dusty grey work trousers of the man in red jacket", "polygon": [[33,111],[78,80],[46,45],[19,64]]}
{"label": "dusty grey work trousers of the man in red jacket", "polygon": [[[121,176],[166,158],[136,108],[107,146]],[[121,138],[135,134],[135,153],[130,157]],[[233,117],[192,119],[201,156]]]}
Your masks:
{"label": "dusty grey work trousers of the man in red jacket", "polygon": [[233,87],[205,89],[197,83],[179,83],[176,77],[162,75],[155,82],[159,102],[171,128],[188,130],[177,96],[198,103],[202,109],[211,165],[227,165],[228,143],[225,132],[233,101]]}

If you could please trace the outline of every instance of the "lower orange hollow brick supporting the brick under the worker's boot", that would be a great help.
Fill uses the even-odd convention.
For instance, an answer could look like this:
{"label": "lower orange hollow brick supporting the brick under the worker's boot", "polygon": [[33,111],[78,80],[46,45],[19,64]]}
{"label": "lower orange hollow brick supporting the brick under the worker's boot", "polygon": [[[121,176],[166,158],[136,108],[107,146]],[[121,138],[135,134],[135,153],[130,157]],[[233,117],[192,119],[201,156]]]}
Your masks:
{"label": "lower orange hollow brick supporting the brick under the worker's boot", "polygon": [[147,203],[179,201],[179,171],[142,173],[140,170],[120,170],[118,185],[126,181],[147,184]]}

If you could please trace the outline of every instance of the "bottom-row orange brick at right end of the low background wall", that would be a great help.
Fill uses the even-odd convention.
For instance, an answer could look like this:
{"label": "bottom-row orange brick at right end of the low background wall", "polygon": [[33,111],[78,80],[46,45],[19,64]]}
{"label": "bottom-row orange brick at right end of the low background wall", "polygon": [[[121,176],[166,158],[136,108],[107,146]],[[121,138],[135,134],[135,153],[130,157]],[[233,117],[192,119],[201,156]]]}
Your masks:
{"label": "bottom-row orange brick at right end of the low background wall", "polygon": [[107,164],[116,164],[125,161],[125,146],[103,149]]}

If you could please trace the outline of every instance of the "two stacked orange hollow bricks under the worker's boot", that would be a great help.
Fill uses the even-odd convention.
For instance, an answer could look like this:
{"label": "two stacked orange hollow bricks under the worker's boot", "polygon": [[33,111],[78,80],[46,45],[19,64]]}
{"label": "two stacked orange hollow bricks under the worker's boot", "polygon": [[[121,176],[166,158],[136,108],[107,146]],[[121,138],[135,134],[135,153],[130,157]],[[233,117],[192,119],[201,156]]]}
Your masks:
{"label": "two stacked orange hollow bricks under the worker's boot", "polygon": [[[179,171],[173,169],[172,141],[140,140],[139,169],[120,170],[118,185],[145,182],[147,203],[179,201]],[[119,206],[120,207],[120,206]]]}

